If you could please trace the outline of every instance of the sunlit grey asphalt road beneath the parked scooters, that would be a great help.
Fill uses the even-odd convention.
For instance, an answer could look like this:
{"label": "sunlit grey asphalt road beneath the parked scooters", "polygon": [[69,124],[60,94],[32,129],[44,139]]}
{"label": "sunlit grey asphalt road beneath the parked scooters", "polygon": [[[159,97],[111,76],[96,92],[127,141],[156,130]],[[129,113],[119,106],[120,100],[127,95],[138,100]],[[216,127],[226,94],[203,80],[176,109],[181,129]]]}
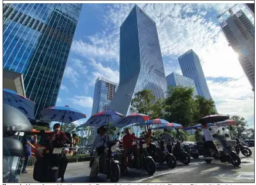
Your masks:
{"label": "sunlit grey asphalt road beneath the parked scooters", "polygon": [[[177,163],[176,168],[170,169],[166,164],[156,164],[156,173],[149,176],[145,170],[128,170],[128,175],[121,176],[119,182],[254,182],[254,147],[252,156],[246,158],[240,154],[241,165],[235,167],[229,163],[214,160],[205,163],[203,158],[191,159],[189,165]],[[89,182],[89,162],[69,163],[64,175],[66,182]],[[98,175],[96,182],[107,182],[106,175]],[[33,168],[29,174],[20,175],[19,182],[36,182],[33,180]]]}

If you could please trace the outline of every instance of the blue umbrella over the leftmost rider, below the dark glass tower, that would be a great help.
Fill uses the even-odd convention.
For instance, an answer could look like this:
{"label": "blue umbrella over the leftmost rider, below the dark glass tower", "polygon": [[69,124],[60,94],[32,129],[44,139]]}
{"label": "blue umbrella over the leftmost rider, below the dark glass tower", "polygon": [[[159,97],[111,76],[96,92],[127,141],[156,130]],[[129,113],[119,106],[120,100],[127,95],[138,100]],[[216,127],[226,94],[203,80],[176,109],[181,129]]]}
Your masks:
{"label": "blue umbrella over the leftmost rider, below the dark glass tower", "polygon": [[65,123],[70,123],[79,119],[86,118],[85,114],[79,110],[68,107],[68,105],[64,107],[45,108],[44,110],[41,110],[40,114],[41,120],[43,121],[58,121]]}

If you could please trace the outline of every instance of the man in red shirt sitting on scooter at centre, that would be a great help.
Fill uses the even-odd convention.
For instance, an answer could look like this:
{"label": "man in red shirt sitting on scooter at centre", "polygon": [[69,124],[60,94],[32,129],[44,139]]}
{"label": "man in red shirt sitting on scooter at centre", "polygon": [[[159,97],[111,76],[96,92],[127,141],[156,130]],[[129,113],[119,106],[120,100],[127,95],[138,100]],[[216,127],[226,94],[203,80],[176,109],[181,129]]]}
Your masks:
{"label": "man in red shirt sitting on scooter at centre", "polygon": [[124,130],[126,135],[123,137],[123,147],[124,147],[124,166],[128,166],[128,156],[133,153],[135,164],[138,164],[138,147],[137,145],[133,145],[132,140],[137,140],[138,138],[135,135],[130,134],[130,130],[126,128]]}

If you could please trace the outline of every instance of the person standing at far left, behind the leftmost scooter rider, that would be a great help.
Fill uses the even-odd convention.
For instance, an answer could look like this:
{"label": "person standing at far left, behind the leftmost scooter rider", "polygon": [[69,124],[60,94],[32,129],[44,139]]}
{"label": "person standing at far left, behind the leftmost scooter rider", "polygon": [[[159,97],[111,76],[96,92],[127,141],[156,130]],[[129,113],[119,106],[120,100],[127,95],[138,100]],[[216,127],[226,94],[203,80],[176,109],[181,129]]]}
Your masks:
{"label": "person standing at far left, behind the leftmost scooter rider", "polygon": [[37,136],[36,135],[31,135],[31,134],[27,134],[24,136],[23,140],[22,140],[22,144],[23,144],[23,151],[24,151],[24,154],[23,154],[23,157],[25,158],[24,160],[24,165],[23,165],[23,168],[22,168],[22,173],[26,174],[28,173],[27,171],[27,165],[29,163],[29,159],[31,157],[31,149],[36,149],[36,147],[33,145],[33,144],[36,144],[36,138]]}

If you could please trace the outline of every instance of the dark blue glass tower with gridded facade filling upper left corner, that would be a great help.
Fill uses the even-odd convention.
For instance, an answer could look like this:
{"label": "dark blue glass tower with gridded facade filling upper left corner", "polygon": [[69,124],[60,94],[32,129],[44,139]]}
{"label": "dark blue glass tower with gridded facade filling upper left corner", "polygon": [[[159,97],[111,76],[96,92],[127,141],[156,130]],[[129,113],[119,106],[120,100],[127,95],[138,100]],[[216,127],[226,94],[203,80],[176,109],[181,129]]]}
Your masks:
{"label": "dark blue glass tower with gridded facade filling upper left corner", "polygon": [[3,68],[24,75],[26,97],[54,106],[82,4],[4,4]]}

